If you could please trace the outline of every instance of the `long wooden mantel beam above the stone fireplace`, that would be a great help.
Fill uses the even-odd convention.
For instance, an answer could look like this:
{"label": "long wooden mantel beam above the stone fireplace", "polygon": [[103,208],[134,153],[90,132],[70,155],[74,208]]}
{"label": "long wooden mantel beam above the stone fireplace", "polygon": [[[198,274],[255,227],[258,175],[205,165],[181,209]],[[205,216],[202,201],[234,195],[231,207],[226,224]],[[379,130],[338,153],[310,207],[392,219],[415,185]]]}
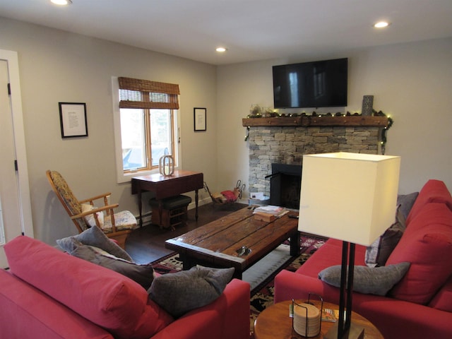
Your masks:
{"label": "long wooden mantel beam above the stone fireplace", "polygon": [[276,117],[276,118],[244,118],[242,126],[363,126],[387,127],[388,117],[372,117],[350,115],[341,117]]}

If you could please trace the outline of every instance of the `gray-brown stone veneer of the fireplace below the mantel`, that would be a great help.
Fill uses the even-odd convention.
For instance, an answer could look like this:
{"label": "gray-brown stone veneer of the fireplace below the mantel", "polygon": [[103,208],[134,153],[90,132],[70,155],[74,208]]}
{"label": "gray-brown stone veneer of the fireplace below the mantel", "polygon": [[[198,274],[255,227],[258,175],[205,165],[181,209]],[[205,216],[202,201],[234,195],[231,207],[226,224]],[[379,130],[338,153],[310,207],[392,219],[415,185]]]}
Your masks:
{"label": "gray-brown stone veneer of the fireplace below the mantel", "polygon": [[[378,154],[380,126],[250,126],[249,191],[270,195],[271,164],[302,165],[304,154]],[[334,169],[331,169],[334,175]]]}

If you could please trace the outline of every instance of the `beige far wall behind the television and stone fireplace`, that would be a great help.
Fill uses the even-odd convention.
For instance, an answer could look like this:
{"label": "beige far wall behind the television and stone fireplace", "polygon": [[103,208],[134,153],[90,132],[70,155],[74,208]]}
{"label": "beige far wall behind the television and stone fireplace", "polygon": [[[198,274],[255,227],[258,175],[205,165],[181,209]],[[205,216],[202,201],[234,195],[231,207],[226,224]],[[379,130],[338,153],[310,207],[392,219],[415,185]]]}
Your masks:
{"label": "beige far wall behind the television and stone fireplace", "polygon": [[[452,38],[319,55],[349,58],[350,112],[363,95],[394,119],[387,155],[400,155],[400,193],[419,191],[428,179],[452,189]],[[251,104],[273,107],[271,66],[310,60],[269,60],[218,67],[218,181],[248,182],[248,145],[242,118]],[[309,112],[309,111],[307,111]]]}

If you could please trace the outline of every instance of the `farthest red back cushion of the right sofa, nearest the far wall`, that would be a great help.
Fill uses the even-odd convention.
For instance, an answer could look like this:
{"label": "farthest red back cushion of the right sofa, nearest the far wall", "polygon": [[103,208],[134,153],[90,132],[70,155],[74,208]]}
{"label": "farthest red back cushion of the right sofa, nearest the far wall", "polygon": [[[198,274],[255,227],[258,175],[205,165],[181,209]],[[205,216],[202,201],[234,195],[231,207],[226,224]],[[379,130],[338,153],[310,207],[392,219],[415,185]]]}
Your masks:
{"label": "farthest red back cushion of the right sofa, nearest the far wall", "polygon": [[440,180],[430,179],[419,192],[414,205],[407,217],[407,227],[409,227],[412,218],[414,218],[427,203],[445,203],[452,210],[452,196],[448,191],[446,184]]}

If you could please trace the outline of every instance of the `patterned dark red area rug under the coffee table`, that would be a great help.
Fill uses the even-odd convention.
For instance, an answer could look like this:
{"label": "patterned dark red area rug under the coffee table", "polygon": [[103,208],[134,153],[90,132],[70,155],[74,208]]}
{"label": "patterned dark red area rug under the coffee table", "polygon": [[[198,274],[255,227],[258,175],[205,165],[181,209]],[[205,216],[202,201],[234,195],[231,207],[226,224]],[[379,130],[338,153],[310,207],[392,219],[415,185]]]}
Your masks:
{"label": "patterned dark red area rug under the coffee table", "polygon": [[[250,314],[250,331],[254,330],[254,320],[257,318],[258,314],[263,311],[270,304],[273,304],[273,290],[274,283],[273,279],[275,275],[280,272],[280,270],[290,270],[295,272],[300,266],[303,265],[308,258],[314,254],[314,252],[319,249],[325,243],[325,239],[321,237],[300,237],[300,255],[290,258],[286,261],[283,266],[273,271],[267,278],[264,278],[259,283],[253,283],[255,287],[251,290],[251,314]],[[288,249],[289,242],[285,242],[282,246],[287,246]],[[280,249],[280,247],[278,247]],[[265,259],[265,258],[264,258]],[[258,263],[256,263],[258,265]],[[268,265],[266,265],[268,266]],[[182,261],[179,259],[179,254],[170,254],[165,258],[161,258],[159,261],[153,263],[153,268],[155,272],[160,274],[174,273],[182,270]],[[245,271],[246,273],[246,271]],[[245,274],[244,274],[244,280]]]}

